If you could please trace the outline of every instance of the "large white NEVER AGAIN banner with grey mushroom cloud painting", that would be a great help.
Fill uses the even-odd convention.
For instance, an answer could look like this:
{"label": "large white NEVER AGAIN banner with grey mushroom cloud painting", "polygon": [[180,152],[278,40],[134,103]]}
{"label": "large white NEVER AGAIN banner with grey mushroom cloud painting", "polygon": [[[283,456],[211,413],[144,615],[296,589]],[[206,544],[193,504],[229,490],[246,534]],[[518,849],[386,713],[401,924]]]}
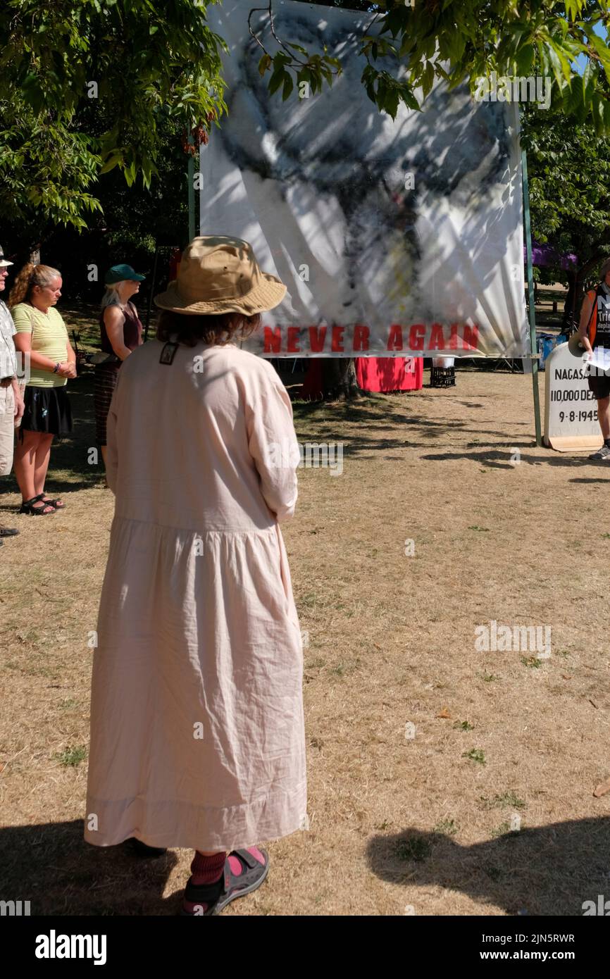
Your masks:
{"label": "large white NEVER AGAIN banner with grey mushroom cloud painting", "polygon": [[[528,356],[518,107],[436,85],[380,114],[360,82],[371,15],[274,3],[276,34],[343,74],[282,101],[261,78],[250,0],[208,8],[229,116],[201,150],[201,234],[249,241],[288,286],[248,341],[264,356]],[[253,27],[273,54],[266,12]],[[396,71],[392,61],[375,63]],[[419,93],[421,94],[421,93]]]}

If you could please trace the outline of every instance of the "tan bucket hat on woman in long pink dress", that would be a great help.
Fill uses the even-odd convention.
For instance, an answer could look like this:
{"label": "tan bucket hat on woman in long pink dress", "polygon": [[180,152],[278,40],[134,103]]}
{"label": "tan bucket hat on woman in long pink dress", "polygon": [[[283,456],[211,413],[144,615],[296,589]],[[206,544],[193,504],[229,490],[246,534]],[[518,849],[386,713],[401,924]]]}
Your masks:
{"label": "tan bucket hat on woman in long pink dress", "polygon": [[207,235],[194,238],[185,248],[177,279],[155,297],[155,303],[186,315],[241,312],[252,316],[273,309],[286,292],[279,279],[260,270],[248,242]]}

